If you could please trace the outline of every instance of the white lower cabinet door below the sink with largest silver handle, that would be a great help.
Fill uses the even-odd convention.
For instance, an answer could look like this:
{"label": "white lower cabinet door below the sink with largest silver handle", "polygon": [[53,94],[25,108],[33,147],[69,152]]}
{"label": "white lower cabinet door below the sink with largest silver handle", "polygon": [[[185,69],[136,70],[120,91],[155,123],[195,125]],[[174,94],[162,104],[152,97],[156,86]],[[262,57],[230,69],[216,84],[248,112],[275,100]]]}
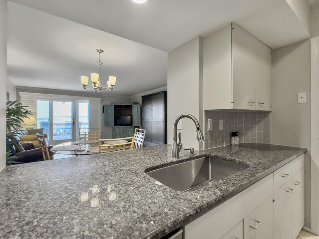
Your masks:
{"label": "white lower cabinet door below the sink with largest silver handle", "polygon": [[244,218],[244,239],[273,238],[273,196]]}

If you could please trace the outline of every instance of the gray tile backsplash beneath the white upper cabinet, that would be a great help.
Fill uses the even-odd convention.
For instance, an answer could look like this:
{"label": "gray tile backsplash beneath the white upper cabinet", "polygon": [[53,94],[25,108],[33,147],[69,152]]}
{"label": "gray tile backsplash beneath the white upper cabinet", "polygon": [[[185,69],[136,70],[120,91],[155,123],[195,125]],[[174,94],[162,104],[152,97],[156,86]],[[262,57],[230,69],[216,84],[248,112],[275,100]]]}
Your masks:
{"label": "gray tile backsplash beneath the white upper cabinet", "polygon": [[[212,119],[212,131],[207,131],[208,119]],[[219,120],[223,120],[223,130],[219,130]],[[205,111],[205,149],[229,145],[234,131],[240,133],[239,143],[269,144],[270,112]]]}

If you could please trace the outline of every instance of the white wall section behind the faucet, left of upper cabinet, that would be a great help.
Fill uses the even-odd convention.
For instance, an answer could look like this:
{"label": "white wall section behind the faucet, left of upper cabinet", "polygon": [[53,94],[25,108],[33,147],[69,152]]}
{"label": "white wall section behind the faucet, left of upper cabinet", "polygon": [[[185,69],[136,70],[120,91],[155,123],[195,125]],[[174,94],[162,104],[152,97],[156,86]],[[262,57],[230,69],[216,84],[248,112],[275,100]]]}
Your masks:
{"label": "white wall section behind the faucet, left of upper cabinet", "polygon": [[[203,123],[202,108],[202,38],[179,46],[168,53],[168,143],[173,143],[175,119],[189,113]],[[201,125],[202,128],[204,125]],[[195,125],[191,119],[182,119],[182,143],[184,147],[202,148],[195,138]]]}

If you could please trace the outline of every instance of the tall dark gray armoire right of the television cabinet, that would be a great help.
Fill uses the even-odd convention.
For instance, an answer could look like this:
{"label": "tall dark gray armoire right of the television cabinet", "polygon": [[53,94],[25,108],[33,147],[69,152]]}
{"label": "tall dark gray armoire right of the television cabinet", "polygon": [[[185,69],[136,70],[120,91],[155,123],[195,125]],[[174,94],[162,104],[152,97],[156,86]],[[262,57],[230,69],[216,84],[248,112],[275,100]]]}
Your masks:
{"label": "tall dark gray armoire right of the television cabinet", "polygon": [[167,144],[167,91],[142,96],[144,146]]}

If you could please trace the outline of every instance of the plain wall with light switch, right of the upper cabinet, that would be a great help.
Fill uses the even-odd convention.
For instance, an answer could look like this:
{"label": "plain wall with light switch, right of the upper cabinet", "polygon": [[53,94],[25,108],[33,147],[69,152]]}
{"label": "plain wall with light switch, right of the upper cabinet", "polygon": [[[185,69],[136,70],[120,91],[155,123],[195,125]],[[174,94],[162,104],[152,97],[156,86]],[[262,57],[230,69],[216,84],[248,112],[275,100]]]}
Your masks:
{"label": "plain wall with light switch, right of the upper cabinet", "polygon": [[[306,92],[307,103],[297,103]],[[271,143],[310,150],[310,40],[273,50]],[[310,155],[305,160],[305,225],[310,227]]]}

